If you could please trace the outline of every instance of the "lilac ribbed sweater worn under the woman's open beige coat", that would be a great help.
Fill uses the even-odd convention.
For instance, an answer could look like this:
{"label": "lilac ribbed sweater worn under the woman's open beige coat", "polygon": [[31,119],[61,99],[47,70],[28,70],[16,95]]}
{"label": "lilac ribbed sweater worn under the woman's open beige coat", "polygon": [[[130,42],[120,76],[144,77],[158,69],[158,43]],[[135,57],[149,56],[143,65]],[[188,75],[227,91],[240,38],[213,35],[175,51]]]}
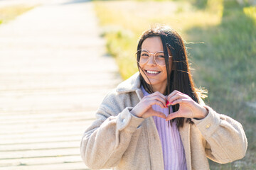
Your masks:
{"label": "lilac ribbed sweater worn under the woman's open beige coat", "polygon": [[[142,91],[144,96],[149,95],[143,87]],[[168,108],[161,108],[158,105],[154,105],[152,108],[154,111],[160,111],[166,116],[168,115]],[[161,140],[161,146],[164,154],[164,169],[186,170],[185,153],[178,128],[176,128],[176,122],[174,121],[172,125],[168,125],[169,123],[163,118],[153,116],[153,119]]]}

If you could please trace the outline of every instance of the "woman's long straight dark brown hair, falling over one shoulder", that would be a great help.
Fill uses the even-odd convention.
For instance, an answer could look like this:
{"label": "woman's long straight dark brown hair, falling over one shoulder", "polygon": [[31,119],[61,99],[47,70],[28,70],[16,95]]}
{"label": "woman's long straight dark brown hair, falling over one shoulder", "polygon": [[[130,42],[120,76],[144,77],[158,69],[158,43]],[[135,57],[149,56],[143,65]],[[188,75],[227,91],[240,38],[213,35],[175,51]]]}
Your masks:
{"label": "woman's long straight dark brown hair, falling over one shoulder", "polygon": [[[165,95],[171,94],[172,91],[177,90],[181,91],[183,94],[187,94],[190,96],[193,101],[198,103],[198,93],[200,90],[196,89],[193,84],[193,79],[191,77],[191,72],[189,70],[188,57],[186,53],[186,47],[184,42],[178,33],[169,28],[168,26],[158,26],[156,28],[151,28],[146,30],[141,38],[139,39],[137,50],[142,50],[142,43],[146,38],[151,37],[160,37],[161,42],[163,43],[164,48],[164,57],[166,63],[166,71],[167,71],[167,86]],[[172,65],[171,72],[169,72],[169,53],[168,49],[171,52],[172,56]],[[140,53],[137,52],[137,66],[139,67]],[[143,69],[140,69],[142,72]],[[145,74],[146,75],[146,74]],[[140,80],[142,82],[142,86],[149,93],[152,94],[154,91],[152,90],[151,84],[147,84],[142,74],[139,74]],[[172,106],[173,111],[178,111],[179,105]],[[170,114],[170,106],[169,106],[169,114]],[[176,125],[178,128],[183,127],[185,122],[184,118],[176,118]],[[171,123],[174,120],[170,120]],[[187,119],[187,123],[193,123],[190,118]]]}

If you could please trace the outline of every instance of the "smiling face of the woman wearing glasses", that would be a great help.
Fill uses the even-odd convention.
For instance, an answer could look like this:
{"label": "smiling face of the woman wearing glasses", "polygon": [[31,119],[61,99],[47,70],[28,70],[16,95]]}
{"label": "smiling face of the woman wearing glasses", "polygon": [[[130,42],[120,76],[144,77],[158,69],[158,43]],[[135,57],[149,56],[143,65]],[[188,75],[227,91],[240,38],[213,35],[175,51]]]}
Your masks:
{"label": "smiling face of the woman wearing glasses", "polygon": [[[162,54],[164,55],[163,44],[161,42],[161,38],[158,36],[146,38],[146,40],[142,42],[142,50],[146,50],[150,53],[162,52]],[[143,64],[139,62],[139,66],[141,67],[141,69],[143,69],[146,75],[144,74],[144,72],[142,72],[141,69],[139,69],[139,72],[142,74],[142,77],[144,78],[147,84],[151,83],[154,92],[159,91],[162,94],[164,94],[167,85],[166,66],[160,66],[159,64],[156,64],[153,54],[150,54],[149,56],[150,57],[147,62]],[[169,66],[171,67],[171,58],[169,58]],[[171,70],[171,68],[169,70]],[[146,76],[149,79],[146,78]]]}

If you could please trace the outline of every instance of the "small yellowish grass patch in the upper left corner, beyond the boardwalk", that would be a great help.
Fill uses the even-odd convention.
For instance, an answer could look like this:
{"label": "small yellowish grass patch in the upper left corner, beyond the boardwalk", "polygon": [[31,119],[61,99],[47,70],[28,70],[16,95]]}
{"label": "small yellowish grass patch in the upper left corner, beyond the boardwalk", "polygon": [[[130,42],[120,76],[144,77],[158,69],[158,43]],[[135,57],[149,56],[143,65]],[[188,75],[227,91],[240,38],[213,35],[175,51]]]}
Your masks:
{"label": "small yellowish grass patch in the upper left corner, beyond the boardwalk", "polygon": [[11,21],[14,18],[16,18],[16,16],[19,16],[21,15],[21,13],[29,11],[32,8],[34,8],[34,6],[17,5],[17,6],[1,7],[0,8],[0,24]]}

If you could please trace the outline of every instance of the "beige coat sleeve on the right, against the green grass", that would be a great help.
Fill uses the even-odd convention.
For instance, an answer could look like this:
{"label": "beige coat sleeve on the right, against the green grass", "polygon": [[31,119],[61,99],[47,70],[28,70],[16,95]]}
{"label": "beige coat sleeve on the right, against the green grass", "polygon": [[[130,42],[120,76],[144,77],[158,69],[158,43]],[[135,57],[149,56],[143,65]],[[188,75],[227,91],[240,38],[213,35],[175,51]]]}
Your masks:
{"label": "beige coat sleeve on the right, against the green grass", "polygon": [[233,162],[245,157],[247,138],[242,125],[227,115],[213,111],[209,106],[208,115],[202,120],[192,119],[206,140],[206,155],[220,164]]}

